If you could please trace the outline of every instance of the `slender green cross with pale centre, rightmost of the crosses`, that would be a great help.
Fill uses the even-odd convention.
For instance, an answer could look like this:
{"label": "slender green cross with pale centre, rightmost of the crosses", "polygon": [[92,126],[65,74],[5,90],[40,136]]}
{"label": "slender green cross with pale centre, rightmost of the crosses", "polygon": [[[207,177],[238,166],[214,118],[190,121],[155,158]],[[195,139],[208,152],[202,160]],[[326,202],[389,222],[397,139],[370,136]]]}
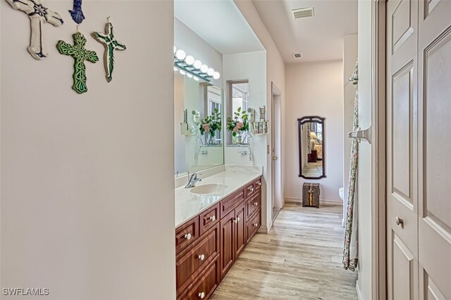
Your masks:
{"label": "slender green cross with pale centre, rightmost of the crosses", "polygon": [[104,51],[104,66],[106,72],[106,81],[111,82],[113,79],[113,68],[114,68],[114,50],[124,51],[127,49],[125,44],[119,42],[114,38],[113,35],[113,25],[111,23],[106,23],[105,33],[92,32],[92,37],[97,40],[97,42],[105,46]]}

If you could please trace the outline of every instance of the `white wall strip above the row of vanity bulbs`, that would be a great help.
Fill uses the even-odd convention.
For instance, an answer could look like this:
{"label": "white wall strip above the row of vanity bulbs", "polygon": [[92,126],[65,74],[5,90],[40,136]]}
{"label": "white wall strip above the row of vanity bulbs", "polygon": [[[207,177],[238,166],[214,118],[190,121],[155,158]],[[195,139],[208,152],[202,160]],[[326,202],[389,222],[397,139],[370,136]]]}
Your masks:
{"label": "white wall strip above the row of vanity bulbs", "polygon": [[[177,49],[183,49],[186,55],[199,59],[221,75],[223,74],[223,55],[178,18],[174,18],[174,44]],[[218,80],[211,78],[211,84],[223,88],[221,78]]]}

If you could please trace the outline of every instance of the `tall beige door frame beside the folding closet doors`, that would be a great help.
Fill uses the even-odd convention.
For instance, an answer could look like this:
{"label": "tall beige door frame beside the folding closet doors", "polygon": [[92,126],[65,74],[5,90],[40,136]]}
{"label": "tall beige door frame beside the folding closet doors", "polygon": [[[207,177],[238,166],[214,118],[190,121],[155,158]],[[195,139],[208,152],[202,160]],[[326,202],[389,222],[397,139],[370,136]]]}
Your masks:
{"label": "tall beige door frame beside the folding closet doors", "polygon": [[387,298],[387,256],[386,256],[386,0],[373,1],[373,54],[372,73],[372,172],[371,206],[373,208],[372,226],[372,267],[375,270],[373,278],[373,299]]}

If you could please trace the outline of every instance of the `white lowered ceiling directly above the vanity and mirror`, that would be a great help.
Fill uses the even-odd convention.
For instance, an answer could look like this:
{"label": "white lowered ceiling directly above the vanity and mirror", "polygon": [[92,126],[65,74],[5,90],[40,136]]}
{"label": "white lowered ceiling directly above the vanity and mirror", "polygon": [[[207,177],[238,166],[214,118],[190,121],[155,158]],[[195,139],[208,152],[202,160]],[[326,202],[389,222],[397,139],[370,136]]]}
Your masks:
{"label": "white lowered ceiling directly above the vanity and mirror", "polygon": [[264,50],[233,0],[175,0],[174,15],[221,54]]}

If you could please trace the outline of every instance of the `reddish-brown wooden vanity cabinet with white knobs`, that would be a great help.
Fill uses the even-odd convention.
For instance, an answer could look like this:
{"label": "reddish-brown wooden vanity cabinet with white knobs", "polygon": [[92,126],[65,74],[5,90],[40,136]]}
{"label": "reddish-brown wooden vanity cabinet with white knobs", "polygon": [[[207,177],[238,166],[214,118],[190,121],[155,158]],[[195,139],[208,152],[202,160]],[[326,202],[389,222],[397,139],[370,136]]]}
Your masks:
{"label": "reddish-brown wooden vanity cabinet with white knobs", "polygon": [[175,230],[177,299],[209,299],[261,226],[261,177]]}

